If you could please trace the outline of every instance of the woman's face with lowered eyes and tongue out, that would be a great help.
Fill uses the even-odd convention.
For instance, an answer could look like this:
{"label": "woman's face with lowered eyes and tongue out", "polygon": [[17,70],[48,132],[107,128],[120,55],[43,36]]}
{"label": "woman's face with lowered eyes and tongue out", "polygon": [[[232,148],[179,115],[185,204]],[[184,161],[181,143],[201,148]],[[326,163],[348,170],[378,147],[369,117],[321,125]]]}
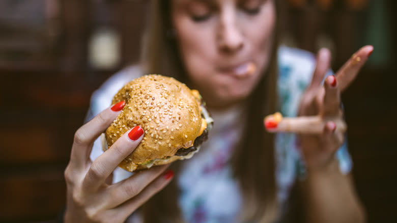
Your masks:
{"label": "woman's face with lowered eyes and tongue out", "polygon": [[210,107],[252,92],[268,67],[273,0],[173,0],[172,21],[190,84]]}

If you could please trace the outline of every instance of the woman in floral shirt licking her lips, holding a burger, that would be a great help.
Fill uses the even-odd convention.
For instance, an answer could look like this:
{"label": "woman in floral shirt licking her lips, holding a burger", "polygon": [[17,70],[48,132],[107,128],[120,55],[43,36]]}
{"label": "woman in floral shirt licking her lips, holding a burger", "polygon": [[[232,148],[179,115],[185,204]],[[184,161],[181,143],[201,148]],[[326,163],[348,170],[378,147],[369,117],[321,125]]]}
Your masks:
{"label": "woman in floral shirt licking her lips, holding a burger", "polygon": [[[143,62],[111,77],[93,95],[92,120],[75,134],[65,171],[65,221],[281,221],[299,175],[306,222],[363,222],[343,145],[339,94],[373,47],[361,48],[333,76],[328,50],[315,60],[278,46],[279,1],[152,2]],[[165,165],[131,176],[117,169],[112,183],[113,170],[143,131],[123,135],[103,154],[94,141],[122,109],[107,107],[111,97],[144,73],[172,74],[199,90],[214,129],[200,153],[172,164],[173,171]],[[266,133],[262,120],[276,110],[302,117],[278,125],[269,119],[266,128],[298,136]],[[310,132],[313,119],[320,131]]]}

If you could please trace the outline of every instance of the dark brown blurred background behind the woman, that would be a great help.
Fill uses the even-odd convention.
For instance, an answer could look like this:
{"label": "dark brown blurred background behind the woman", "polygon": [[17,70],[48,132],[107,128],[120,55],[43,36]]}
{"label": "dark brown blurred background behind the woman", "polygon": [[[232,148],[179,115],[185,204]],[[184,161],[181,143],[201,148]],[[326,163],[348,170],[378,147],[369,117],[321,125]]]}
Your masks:
{"label": "dark brown blurred background behind the woman", "polygon": [[[282,42],[329,47],[333,70],[374,45],[343,94],[348,143],[368,222],[395,222],[395,1],[283,1]],[[149,2],[0,0],[0,222],[56,218],[74,132],[93,91],[138,60]]]}

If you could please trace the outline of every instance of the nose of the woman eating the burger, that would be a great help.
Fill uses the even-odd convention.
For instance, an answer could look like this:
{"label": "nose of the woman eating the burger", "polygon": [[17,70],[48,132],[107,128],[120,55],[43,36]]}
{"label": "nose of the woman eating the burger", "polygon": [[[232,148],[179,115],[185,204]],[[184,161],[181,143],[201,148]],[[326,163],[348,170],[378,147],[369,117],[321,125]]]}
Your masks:
{"label": "nose of the woman eating the burger", "polygon": [[223,53],[235,53],[244,46],[241,28],[237,24],[235,12],[221,13],[217,31],[218,48]]}

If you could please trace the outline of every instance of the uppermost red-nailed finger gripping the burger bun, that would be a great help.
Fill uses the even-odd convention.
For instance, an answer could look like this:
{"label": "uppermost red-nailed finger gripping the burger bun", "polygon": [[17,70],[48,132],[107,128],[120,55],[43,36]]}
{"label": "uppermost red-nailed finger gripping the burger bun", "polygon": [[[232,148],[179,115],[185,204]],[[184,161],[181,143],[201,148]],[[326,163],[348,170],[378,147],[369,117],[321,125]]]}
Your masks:
{"label": "uppermost red-nailed finger gripping the burger bun", "polygon": [[94,141],[116,119],[124,105],[125,102],[121,101],[106,108],[76,131],[70,155],[72,165],[85,169]]}

